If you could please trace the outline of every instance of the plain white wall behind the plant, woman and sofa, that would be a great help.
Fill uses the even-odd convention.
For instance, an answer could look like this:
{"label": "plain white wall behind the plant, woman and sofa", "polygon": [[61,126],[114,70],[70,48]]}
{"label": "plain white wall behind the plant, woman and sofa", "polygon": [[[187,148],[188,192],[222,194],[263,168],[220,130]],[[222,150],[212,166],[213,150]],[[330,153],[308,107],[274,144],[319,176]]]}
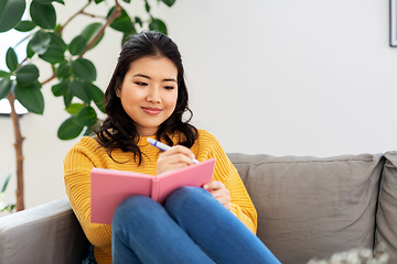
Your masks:
{"label": "plain white wall behind the plant, woman and sofa", "polygon": [[[128,11],[142,13],[142,2],[132,1]],[[388,45],[388,0],[152,3],[183,55],[194,124],[226,152],[330,156],[397,148],[397,48]],[[60,21],[82,6],[67,0]],[[79,31],[84,21],[69,30]],[[88,54],[103,89],[120,37],[106,34]],[[21,120],[28,207],[65,196],[62,160],[76,142],[56,138],[67,114],[50,89],[43,88],[44,116]],[[9,119],[0,118],[0,131],[2,180],[14,169]],[[11,190],[6,198],[14,199]]]}

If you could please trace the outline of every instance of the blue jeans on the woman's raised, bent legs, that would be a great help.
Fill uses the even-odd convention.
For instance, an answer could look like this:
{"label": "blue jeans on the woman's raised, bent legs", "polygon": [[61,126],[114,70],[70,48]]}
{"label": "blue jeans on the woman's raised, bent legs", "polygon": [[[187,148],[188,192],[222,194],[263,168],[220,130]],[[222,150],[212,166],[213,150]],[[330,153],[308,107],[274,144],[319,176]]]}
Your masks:
{"label": "blue jeans on the woman's raised, bent legs", "polygon": [[120,263],[280,264],[208,191],[182,187],[164,206],[132,196],[112,220],[112,261]]}

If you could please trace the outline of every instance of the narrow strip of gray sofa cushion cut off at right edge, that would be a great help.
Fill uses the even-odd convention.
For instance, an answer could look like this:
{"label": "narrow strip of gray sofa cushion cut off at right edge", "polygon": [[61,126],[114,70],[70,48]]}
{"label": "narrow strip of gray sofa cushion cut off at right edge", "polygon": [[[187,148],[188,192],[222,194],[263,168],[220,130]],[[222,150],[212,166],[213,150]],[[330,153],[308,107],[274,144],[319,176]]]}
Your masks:
{"label": "narrow strip of gray sofa cushion cut off at right edge", "polygon": [[397,152],[386,152],[380,178],[375,242],[385,243],[389,263],[397,263]]}

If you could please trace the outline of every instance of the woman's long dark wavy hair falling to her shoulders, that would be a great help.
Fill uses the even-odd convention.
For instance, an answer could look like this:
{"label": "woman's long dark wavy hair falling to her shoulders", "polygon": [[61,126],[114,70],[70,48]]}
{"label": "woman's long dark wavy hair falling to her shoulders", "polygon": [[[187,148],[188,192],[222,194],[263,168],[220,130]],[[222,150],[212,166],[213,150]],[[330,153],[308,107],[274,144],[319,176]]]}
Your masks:
{"label": "woman's long dark wavy hair falling to her shoulders", "polygon": [[[179,136],[178,144],[191,147],[197,139],[197,130],[190,124],[193,112],[189,108],[189,95],[184,80],[184,69],[181,54],[176,44],[167,35],[153,32],[142,31],[139,34],[130,36],[122,46],[118,57],[118,63],[109,85],[105,91],[105,109],[107,118],[103,122],[97,134],[98,143],[104,146],[109,156],[115,148],[124,152],[132,152],[138,164],[142,162],[142,152],[138,146],[139,133],[135,121],[126,113],[120,98],[116,90],[121,87],[131,63],[142,57],[167,57],[178,69],[178,99],[174,112],[169,119],[160,124],[157,131],[157,139],[165,141],[173,145],[170,135],[181,132],[184,136]],[[187,120],[183,121],[183,114],[190,113]]]}

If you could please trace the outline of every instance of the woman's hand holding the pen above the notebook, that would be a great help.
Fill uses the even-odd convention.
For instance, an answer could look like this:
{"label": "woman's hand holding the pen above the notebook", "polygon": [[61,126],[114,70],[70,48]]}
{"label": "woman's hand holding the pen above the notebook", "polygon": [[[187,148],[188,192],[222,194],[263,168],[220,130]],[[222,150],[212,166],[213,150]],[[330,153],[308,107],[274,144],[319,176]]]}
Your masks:
{"label": "woman's hand holding the pen above the notebook", "polygon": [[157,175],[193,164],[194,154],[185,146],[176,145],[160,154]]}

